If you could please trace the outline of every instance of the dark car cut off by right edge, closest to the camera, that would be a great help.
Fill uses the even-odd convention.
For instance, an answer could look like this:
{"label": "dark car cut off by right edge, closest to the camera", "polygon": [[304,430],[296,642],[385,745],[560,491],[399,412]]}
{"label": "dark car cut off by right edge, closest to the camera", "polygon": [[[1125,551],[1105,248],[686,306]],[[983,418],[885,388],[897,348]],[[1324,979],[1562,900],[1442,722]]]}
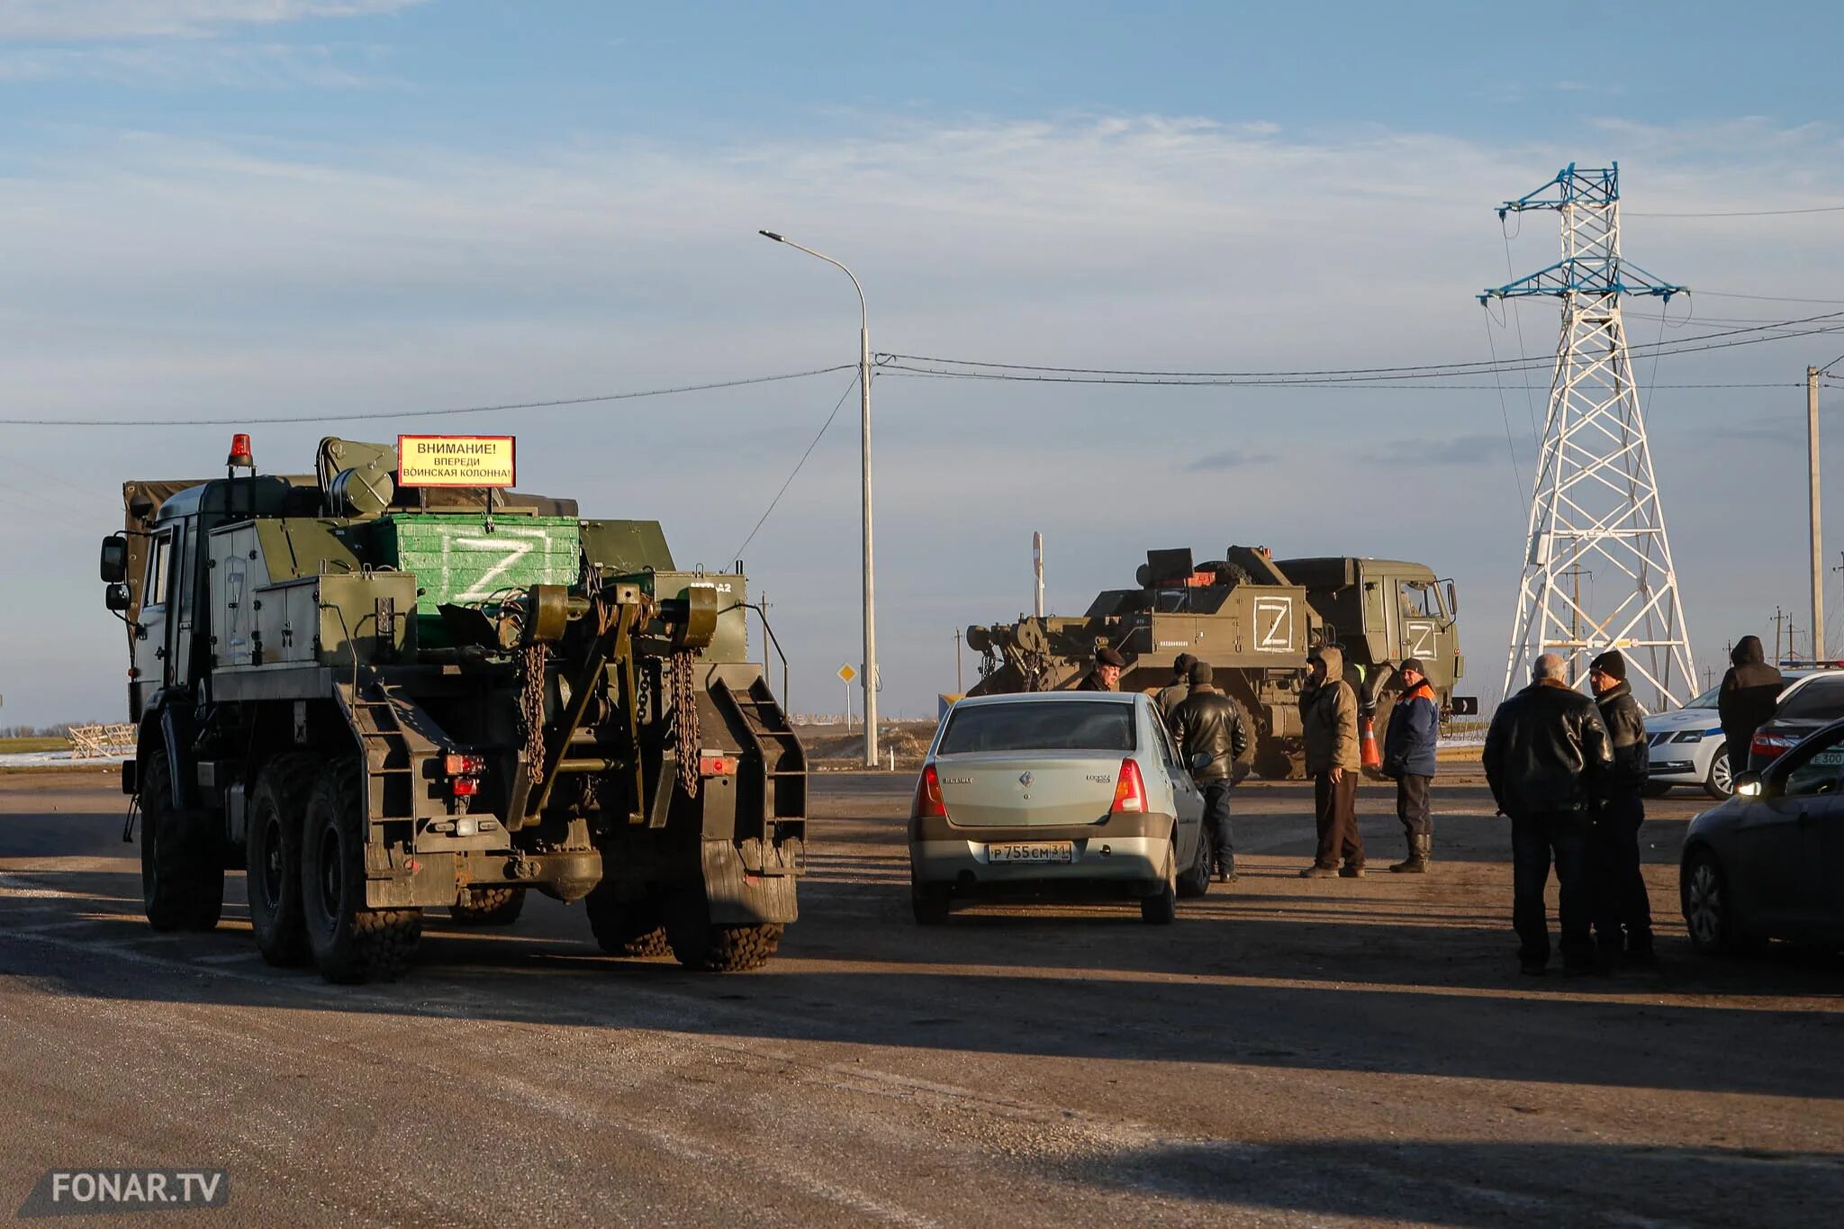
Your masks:
{"label": "dark car cut off by right edge, closest to the camera", "polygon": [[1691,820],[1678,894],[1700,953],[1768,938],[1844,945],[1844,720]]}

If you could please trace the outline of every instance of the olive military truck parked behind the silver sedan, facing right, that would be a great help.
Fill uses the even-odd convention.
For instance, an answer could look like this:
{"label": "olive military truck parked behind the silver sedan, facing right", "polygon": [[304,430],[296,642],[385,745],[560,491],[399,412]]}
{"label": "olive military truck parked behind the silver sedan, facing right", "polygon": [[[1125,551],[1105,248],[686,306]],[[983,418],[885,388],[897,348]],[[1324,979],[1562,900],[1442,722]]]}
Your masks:
{"label": "olive military truck parked behind the silver sedan, facing right", "polygon": [[1127,658],[1121,691],[1164,687],[1173,660],[1189,652],[1241,709],[1252,735],[1241,770],[1300,776],[1300,687],[1318,645],[1344,649],[1348,682],[1379,741],[1401,693],[1401,658],[1427,665],[1444,713],[1477,711],[1477,700],[1453,695],[1466,669],[1457,615],[1453,582],[1422,564],[1274,560],[1267,547],[1243,545],[1197,564],[1189,549],[1147,551],[1136,588],[1101,593],[1081,617],[966,628],[968,647],[983,654],[970,695],[1071,687],[1101,645]]}

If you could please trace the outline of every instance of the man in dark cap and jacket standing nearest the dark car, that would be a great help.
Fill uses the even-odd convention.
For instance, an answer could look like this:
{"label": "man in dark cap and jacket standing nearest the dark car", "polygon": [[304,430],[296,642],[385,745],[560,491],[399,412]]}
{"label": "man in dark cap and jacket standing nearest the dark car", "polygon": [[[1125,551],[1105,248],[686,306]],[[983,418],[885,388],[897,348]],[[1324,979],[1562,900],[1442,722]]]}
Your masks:
{"label": "man in dark cap and jacket standing nearest the dark car", "polygon": [[[1614,748],[1614,772],[1595,813],[1590,881],[1595,897],[1595,945],[1601,964],[1625,954],[1626,964],[1652,967],[1652,901],[1639,873],[1639,824],[1645,822],[1645,778],[1652,767],[1652,744],[1645,737],[1645,713],[1626,685],[1626,658],[1602,652],[1588,667],[1595,689],[1601,724]],[[1621,927],[1626,929],[1625,943]]]}

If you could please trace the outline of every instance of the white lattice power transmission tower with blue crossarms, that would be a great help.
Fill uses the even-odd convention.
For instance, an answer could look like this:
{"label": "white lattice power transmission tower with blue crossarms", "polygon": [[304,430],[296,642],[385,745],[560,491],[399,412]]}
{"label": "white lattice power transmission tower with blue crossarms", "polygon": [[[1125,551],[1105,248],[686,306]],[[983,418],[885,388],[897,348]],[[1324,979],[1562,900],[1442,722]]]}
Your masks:
{"label": "white lattice power transmission tower with blue crossarms", "polygon": [[[1595,654],[1619,649],[1637,678],[1658,689],[1660,708],[1676,706],[1687,698],[1678,691],[1696,685],[1696,671],[1632,380],[1621,295],[1669,302],[1685,291],[1621,258],[1617,162],[1597,170],[1569,164],[1497,214],[1503,221],[1527,210],[1560,214],[1562,260],[1479,297],[1481,304],[1538,297],[1562,302],[1505,693],[1540,652],[1567,658],[1578,680]],[[1560,580],[1588,566],[1602,573],[1602,582],[1584,604]]]}

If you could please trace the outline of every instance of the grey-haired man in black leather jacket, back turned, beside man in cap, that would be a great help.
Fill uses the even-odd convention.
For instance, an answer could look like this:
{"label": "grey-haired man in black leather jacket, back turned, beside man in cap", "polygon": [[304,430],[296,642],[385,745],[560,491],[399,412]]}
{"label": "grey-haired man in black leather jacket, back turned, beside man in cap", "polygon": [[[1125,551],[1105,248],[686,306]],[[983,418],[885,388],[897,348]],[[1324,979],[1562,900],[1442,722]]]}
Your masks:
{"label": "grey-haired man in black leather jacket, back turned, beside man in cap", "polygon": [[1543,884],[1556,860],[1562,903],[1562,967],[1595,969],[1590,934],[1588,825],[1614,755],[1595,702],[1562,680],[1567,665],[1545,652],[1531,665],[1531,685],[1499,704],[1486,732],[1486,783],[1499,814],[1510,816],[1512,929],[1525,973],[1549,966]]}

